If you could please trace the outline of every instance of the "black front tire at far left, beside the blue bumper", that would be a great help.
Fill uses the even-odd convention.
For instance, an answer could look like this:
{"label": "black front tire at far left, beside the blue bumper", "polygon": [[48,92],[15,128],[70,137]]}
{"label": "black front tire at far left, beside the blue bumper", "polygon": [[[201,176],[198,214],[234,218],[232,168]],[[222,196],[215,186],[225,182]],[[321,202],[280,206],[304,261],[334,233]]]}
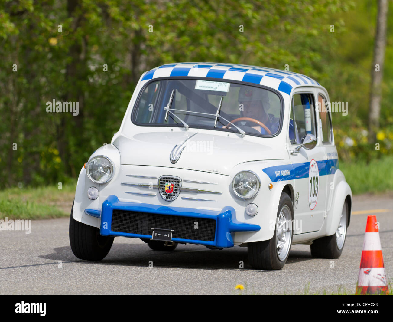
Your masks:
{"label": "black front tire at far left, beside the blue bumper", "polygon": [[108,255],[114,236],[101,236],[99,229],[83,224],[70,216],[70,245],[73,254],[85,261],[101,261]]}

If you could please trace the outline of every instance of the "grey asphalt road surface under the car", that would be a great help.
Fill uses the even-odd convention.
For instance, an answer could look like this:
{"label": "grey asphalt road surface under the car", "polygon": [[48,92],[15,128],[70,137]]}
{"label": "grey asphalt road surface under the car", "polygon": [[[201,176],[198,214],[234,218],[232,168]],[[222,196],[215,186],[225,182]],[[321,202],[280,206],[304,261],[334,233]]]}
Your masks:
{"label": "grey asphalt road surface under the car", "polygon": [[245,286],[244,294],[303,294],[305,288],[313,294],[340,287],[354,292],[369,214],[380,222],[386,276],[393,283],[393,193],[355,196],[353,210],[372,211],[353,215],[334,268],[331,259],[312,258],[310,246],[293,245],[279,271],[251,269],[247,249],[239,246],[208,250],[187,244],[157,252],[139,239],[121,237],[103,261],[90,263],[71,251],[68,218],[34,220],[30,234],[0,231],[0,294],[238,294],[237,284]]}

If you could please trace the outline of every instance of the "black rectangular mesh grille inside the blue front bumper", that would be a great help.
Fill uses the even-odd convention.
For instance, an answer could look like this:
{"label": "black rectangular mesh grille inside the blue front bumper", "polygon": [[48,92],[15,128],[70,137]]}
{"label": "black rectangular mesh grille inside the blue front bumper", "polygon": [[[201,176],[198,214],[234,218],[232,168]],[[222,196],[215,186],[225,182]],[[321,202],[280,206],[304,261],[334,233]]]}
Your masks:
{"label": "black rectangular mesh grille inside the blue front bumper", "polygon": [[[198,222],[198,229],[194,228],[195,222]],[[173,229],[173,238],[214,241],[216,221],[207,218],[113,210],[112,231],[151,236],[152,228]]]}

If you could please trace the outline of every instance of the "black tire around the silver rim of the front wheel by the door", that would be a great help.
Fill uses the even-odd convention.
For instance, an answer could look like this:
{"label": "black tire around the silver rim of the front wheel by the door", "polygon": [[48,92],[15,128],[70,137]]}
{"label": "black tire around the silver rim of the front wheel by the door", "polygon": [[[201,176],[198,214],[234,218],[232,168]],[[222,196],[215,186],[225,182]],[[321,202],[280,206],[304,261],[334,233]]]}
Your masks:
{"label": "black tire around the silver rim of the front wheel by the door", "polygon": [[[277,254],[277,220],[279,218],[280,212],[283,209],[286,209],[288,216],[290,216],[290,241],[288,241],[289,249],[287,249],[287,254],[285,258],[280,259],[279,255]],[[288,211],[289,208],[289,211]],[[258,270],[280,270],[284,267],[286,260],[288,259],[288,255],[290,252],[290,247],[292,245],[293,239],[293,225],[292,220],[294,218],[294,210],[291,198],[283,192],[280,197],[280,202],[278,205],[277,210],[277,219],[276,219],[276,226],[275,231],[272,239],[268,241],[261,241],[261,242],[250,242],[248,243],[248,261],[250,265],[254,269]]]}

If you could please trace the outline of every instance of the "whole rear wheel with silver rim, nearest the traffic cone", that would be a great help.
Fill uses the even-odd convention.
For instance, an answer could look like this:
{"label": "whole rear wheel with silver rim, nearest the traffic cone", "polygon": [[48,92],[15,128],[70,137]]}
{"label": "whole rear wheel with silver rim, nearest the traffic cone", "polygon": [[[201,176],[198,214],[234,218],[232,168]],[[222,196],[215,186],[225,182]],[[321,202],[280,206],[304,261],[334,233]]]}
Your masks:
{"label": "whole rear wheel with silver rim, nearest the traffic cone", "polygon": [[347,235],[347,226],[348,203],[345,201],[341,212],[340,224],[338,224],[336,233],[313,241],[310,246],[312,257],[331,259],[340,257]]}

